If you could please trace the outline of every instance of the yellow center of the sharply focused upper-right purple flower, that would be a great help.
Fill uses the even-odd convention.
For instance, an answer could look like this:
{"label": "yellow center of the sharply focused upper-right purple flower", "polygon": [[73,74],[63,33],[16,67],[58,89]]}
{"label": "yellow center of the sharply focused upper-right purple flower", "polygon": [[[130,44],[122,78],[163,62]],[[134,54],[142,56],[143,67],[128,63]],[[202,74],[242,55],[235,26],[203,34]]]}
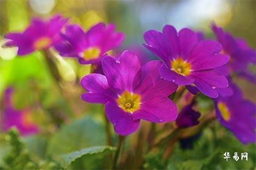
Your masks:
{"label": "yellow center of the sharply focused upper-right purple flower", "polygon": [[183,76],[187,76],[190,75],[191,64],[187,63],[187,61],[182,58],[176,58],[171,61],[171,70]]}

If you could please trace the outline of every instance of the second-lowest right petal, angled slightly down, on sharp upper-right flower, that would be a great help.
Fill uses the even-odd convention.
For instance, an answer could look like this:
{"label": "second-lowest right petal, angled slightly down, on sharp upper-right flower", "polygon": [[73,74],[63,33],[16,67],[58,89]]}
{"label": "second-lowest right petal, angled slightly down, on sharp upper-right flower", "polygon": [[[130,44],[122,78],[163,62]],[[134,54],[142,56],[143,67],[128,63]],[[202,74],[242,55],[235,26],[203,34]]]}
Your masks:
{"label": "second-lowest right petal, angled slightly down, on sharp upper-right flower", "polygon": [[211,87],[226,88],[229,86],[229,81],[224,75],[215,70],[202,70],[200,72],[193,72],[195,79],[199,78]]}

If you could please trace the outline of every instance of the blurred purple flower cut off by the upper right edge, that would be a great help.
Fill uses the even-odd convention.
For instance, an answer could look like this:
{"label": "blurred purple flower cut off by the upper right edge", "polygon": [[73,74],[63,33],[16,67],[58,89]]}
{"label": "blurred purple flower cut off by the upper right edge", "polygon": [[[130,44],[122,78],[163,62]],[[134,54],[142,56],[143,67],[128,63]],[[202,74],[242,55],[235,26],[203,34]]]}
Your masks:
{"label": "blurred purple flower cut off by the upper right edge", "polygon": [[235,39],[230,33],[224,32],[221,27],[215,24],[212,24],[212,30],[223,46],[221,53],[230,56],[230,61],[227,63],[229,69],[239,76],[256,83],[256,75],[248,69],[249,64],[256,63],[256,51],[251,49],[244,39]]}

